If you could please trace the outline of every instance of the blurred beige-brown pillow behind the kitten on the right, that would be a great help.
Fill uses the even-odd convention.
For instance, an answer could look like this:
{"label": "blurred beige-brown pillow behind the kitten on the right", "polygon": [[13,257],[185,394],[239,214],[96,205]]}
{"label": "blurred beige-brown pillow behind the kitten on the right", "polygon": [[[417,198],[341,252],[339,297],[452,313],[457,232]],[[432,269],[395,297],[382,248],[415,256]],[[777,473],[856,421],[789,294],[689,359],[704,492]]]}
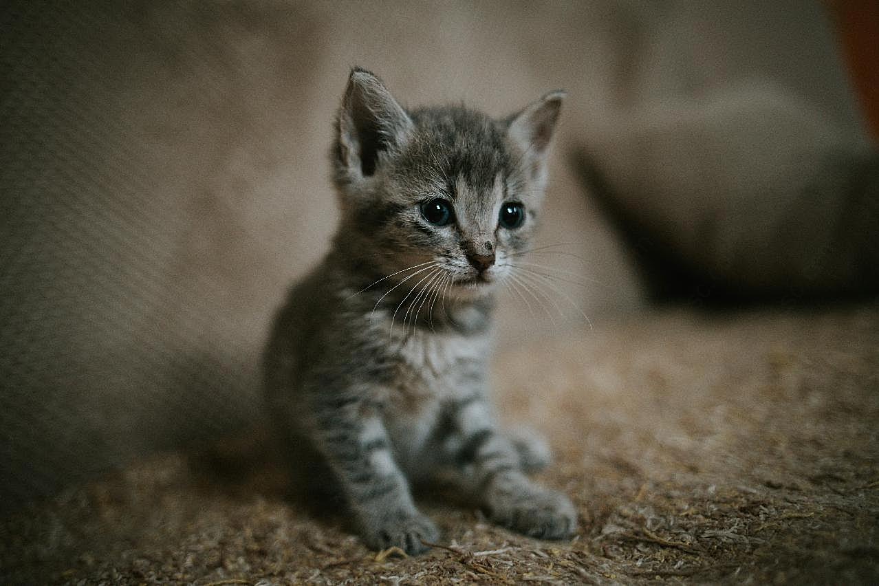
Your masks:
{"label": "blurred beige-brown pillow behind the kitten on the right", "polygon": [[879,156],[777,85],[639,108],[574,159],[656,299],[879,291]]}

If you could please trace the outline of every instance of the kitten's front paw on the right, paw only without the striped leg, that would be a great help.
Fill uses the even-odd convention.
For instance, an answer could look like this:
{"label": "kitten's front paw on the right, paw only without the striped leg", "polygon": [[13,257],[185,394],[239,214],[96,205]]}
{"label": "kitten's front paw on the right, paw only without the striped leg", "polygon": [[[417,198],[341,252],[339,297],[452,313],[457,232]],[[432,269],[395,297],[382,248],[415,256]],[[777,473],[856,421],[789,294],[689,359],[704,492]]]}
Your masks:
{"label": "kitten's front paw on the right, paw only without the striped leg", "polygon": [[527,486],[491,490],[487,512],[493,523],[538,539],[569,539],[577,531],[577,510],[567,496]]}

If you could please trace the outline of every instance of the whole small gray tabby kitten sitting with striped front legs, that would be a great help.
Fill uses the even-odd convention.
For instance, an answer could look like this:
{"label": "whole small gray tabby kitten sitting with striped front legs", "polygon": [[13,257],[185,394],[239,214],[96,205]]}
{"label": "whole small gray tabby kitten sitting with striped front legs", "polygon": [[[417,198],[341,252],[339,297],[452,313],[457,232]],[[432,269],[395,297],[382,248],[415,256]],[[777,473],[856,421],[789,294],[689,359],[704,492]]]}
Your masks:
{"label": "whole small gray tabby kitten sitting with striped front legs", "polygon": [[503,120],[407,112],[352,70],[332,151],[341,225],[277,316],[265,385],[288,447],[317,488],[338,488],[370,547],[438,539],[410,493],[438,474],[499,525],[577,528],[570,500],[525,474],[545,444],[498,430],[486,382],[492,293],[534,230],[562,98]]}

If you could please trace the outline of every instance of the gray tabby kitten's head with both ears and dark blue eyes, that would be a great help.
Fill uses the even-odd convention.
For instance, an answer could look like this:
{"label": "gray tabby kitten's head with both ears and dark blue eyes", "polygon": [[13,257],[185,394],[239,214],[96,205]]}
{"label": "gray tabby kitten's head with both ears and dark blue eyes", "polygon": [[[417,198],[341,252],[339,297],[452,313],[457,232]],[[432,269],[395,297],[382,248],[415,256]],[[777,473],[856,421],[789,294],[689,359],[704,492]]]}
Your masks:
{"label": "gray tabby kitten's head with both ears and dark blue eyes", "polygon": [[563,96],[499,120],[461,106],[407,112],[354,69],[332,153],[338,243],[383,274],[401,271],[396,281],[489,293],[534,232]]}

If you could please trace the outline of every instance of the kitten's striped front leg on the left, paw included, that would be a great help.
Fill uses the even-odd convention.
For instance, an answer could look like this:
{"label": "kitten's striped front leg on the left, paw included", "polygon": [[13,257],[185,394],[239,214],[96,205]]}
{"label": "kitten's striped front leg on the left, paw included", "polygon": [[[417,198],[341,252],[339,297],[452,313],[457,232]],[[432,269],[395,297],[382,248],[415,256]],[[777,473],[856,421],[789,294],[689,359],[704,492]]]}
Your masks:
{"label": "kitten's striped front leg on the left, paw included", "polygon": [[367,546],[421,553],[439,532],[415,507],[409,483],[396,466],[378,416],[334,409],[317,425],[320,451],[336,474]]}

